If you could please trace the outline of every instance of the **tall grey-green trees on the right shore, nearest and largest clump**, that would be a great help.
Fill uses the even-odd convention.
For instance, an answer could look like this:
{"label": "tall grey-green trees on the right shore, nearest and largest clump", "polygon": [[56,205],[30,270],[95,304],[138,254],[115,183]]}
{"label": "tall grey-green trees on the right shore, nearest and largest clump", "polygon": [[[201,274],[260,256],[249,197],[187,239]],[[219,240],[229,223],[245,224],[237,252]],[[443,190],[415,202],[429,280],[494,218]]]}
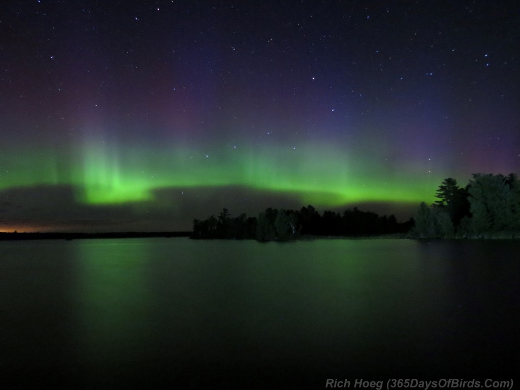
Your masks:
{"label": "tall grey-green trees on the right shore, nearest and largest clump", "polygon": [[422,202],[411,235],[416,238],[520,238],[520,181],[508,176],[473,174],[463,188],[447,178],[438,200]]}

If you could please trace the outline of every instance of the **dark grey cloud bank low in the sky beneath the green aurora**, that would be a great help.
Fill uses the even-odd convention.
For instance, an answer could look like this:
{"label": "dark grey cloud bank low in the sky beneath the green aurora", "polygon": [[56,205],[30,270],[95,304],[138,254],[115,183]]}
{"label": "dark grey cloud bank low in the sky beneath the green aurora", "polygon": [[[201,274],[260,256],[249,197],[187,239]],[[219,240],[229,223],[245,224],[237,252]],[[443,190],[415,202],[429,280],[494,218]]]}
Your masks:
{"label": "dark grey cloud bank low in the sky beneath the green aurora", "polygon": [[[257,216],[267,207],[301,209],[301,194],[252,189],[243,186],[164,187],[153,199],[121,204],[85,204],[76,199],[73,186],[17,187],[0,191],[2,231],[179,231],[191,230],[193,219],[217,215]],[[331,210],[313,204],[320,212]],[[369,203],[336,207],[342,212],[358,206],[364,211],[396,214],[407,219],[416,205]]]}

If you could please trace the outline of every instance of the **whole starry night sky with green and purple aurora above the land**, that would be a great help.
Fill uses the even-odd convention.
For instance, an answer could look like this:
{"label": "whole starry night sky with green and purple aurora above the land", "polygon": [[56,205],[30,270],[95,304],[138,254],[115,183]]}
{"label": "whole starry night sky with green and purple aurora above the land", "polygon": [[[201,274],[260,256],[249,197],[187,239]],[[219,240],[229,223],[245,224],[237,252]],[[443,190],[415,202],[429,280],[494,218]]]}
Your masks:
{"label": "whole starry night sky with green and purple aurora above the land", "polygon": [[518,173],[516,1],[0,6],[0,231],[413,215]]}

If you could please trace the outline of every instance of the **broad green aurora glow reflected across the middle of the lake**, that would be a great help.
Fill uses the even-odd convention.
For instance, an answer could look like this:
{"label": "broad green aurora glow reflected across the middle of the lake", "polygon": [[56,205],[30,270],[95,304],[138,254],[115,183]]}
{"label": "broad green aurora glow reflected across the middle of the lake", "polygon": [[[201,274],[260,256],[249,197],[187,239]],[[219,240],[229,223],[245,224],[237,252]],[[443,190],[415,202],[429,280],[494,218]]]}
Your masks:
{"label": "broad green aurora glow reflected across the middle of the lake", "polygon": [[414,241],[93,240],[77,251],[80,362],[108,385],[258,361],[331,375],[389,353],[413,365],[419,335],[429,351],[449,328]]}

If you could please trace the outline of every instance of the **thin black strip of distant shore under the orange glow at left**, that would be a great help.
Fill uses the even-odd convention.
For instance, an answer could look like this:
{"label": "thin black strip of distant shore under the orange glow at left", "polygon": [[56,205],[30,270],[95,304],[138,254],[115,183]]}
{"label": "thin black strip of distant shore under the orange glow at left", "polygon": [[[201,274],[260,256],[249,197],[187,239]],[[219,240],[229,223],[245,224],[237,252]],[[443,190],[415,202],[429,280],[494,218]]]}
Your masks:
{"label": "thin black strip of distant shore under the orange glow at left", "polygon": [[83,240],[99,238],[189,237],[190,231],[126,231],[109,233],[0,232],[0,241],[18,240]]}

